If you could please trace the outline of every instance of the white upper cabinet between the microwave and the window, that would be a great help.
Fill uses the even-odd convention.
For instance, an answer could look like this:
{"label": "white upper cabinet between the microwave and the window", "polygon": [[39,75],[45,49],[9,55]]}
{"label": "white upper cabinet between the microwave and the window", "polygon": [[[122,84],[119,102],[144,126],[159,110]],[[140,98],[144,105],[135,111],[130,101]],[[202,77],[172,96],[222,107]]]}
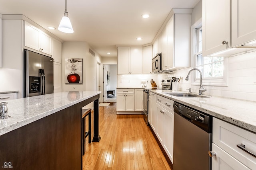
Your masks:
{"label": "white upper cabinet between the microwave and the window", "polygon": [[162,31],[162,70],[190,66],[190,26],[191,14],[174,14],[166,23]]}

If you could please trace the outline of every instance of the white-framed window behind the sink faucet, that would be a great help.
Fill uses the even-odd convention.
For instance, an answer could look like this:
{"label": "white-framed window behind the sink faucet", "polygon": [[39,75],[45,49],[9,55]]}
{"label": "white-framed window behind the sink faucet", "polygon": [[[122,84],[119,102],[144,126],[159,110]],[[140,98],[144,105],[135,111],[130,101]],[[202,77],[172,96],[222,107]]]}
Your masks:
{"label": "white-framed window behind the sink faucet", "polygon": [[[194,29],[194,58],[192,65],[202,72],[202,79],[205,85],[226,86],[226,74],[224,65],[227,66],[225,57],[202,57],[202,26],[192,27]],[[194,82],[198,84],[200,79],[199,72],[194,72]]]}

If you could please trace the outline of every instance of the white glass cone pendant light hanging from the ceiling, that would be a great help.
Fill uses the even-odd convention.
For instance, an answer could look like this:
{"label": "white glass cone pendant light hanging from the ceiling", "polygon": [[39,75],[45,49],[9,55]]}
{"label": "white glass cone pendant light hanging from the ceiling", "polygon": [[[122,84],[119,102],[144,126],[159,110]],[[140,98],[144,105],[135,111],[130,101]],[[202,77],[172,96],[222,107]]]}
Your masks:
{"label": "white glass cone pendant light hanging from the ceiling", "polygon": [[68,11],[67,11],[67,0],[65,3],[65,12],[64,12],[64,16],[62,17],[61,21],[60,21],[60,25],[58,27],[59,31],[62,31],[64,33],[73,33],[74,30],[72,28],[71,22],[68,18]]}

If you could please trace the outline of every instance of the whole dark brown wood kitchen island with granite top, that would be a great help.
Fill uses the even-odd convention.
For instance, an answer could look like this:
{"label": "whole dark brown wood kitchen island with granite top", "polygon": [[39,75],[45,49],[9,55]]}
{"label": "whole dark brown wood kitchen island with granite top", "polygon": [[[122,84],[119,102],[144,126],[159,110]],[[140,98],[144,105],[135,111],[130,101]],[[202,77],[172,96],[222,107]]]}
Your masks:
{"label": "whole dark brown wood kitchen island with granite top", "polygon": [[82,169],[82,107],[94,102],[93,142],[100,141],[101,92],[60,92],[8,101],[0,120],[0,167]]}

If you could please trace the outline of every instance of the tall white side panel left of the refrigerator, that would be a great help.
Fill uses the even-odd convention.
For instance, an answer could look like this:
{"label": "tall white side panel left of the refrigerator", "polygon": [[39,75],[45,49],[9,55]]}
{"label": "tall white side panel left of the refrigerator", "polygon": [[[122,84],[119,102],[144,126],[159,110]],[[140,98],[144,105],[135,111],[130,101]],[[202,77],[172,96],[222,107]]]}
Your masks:
{"label": "tall white side panel left of the refrigerator", "polygon": [[23,21],[2,20],[0,91],[18,90],[23,97]]}

